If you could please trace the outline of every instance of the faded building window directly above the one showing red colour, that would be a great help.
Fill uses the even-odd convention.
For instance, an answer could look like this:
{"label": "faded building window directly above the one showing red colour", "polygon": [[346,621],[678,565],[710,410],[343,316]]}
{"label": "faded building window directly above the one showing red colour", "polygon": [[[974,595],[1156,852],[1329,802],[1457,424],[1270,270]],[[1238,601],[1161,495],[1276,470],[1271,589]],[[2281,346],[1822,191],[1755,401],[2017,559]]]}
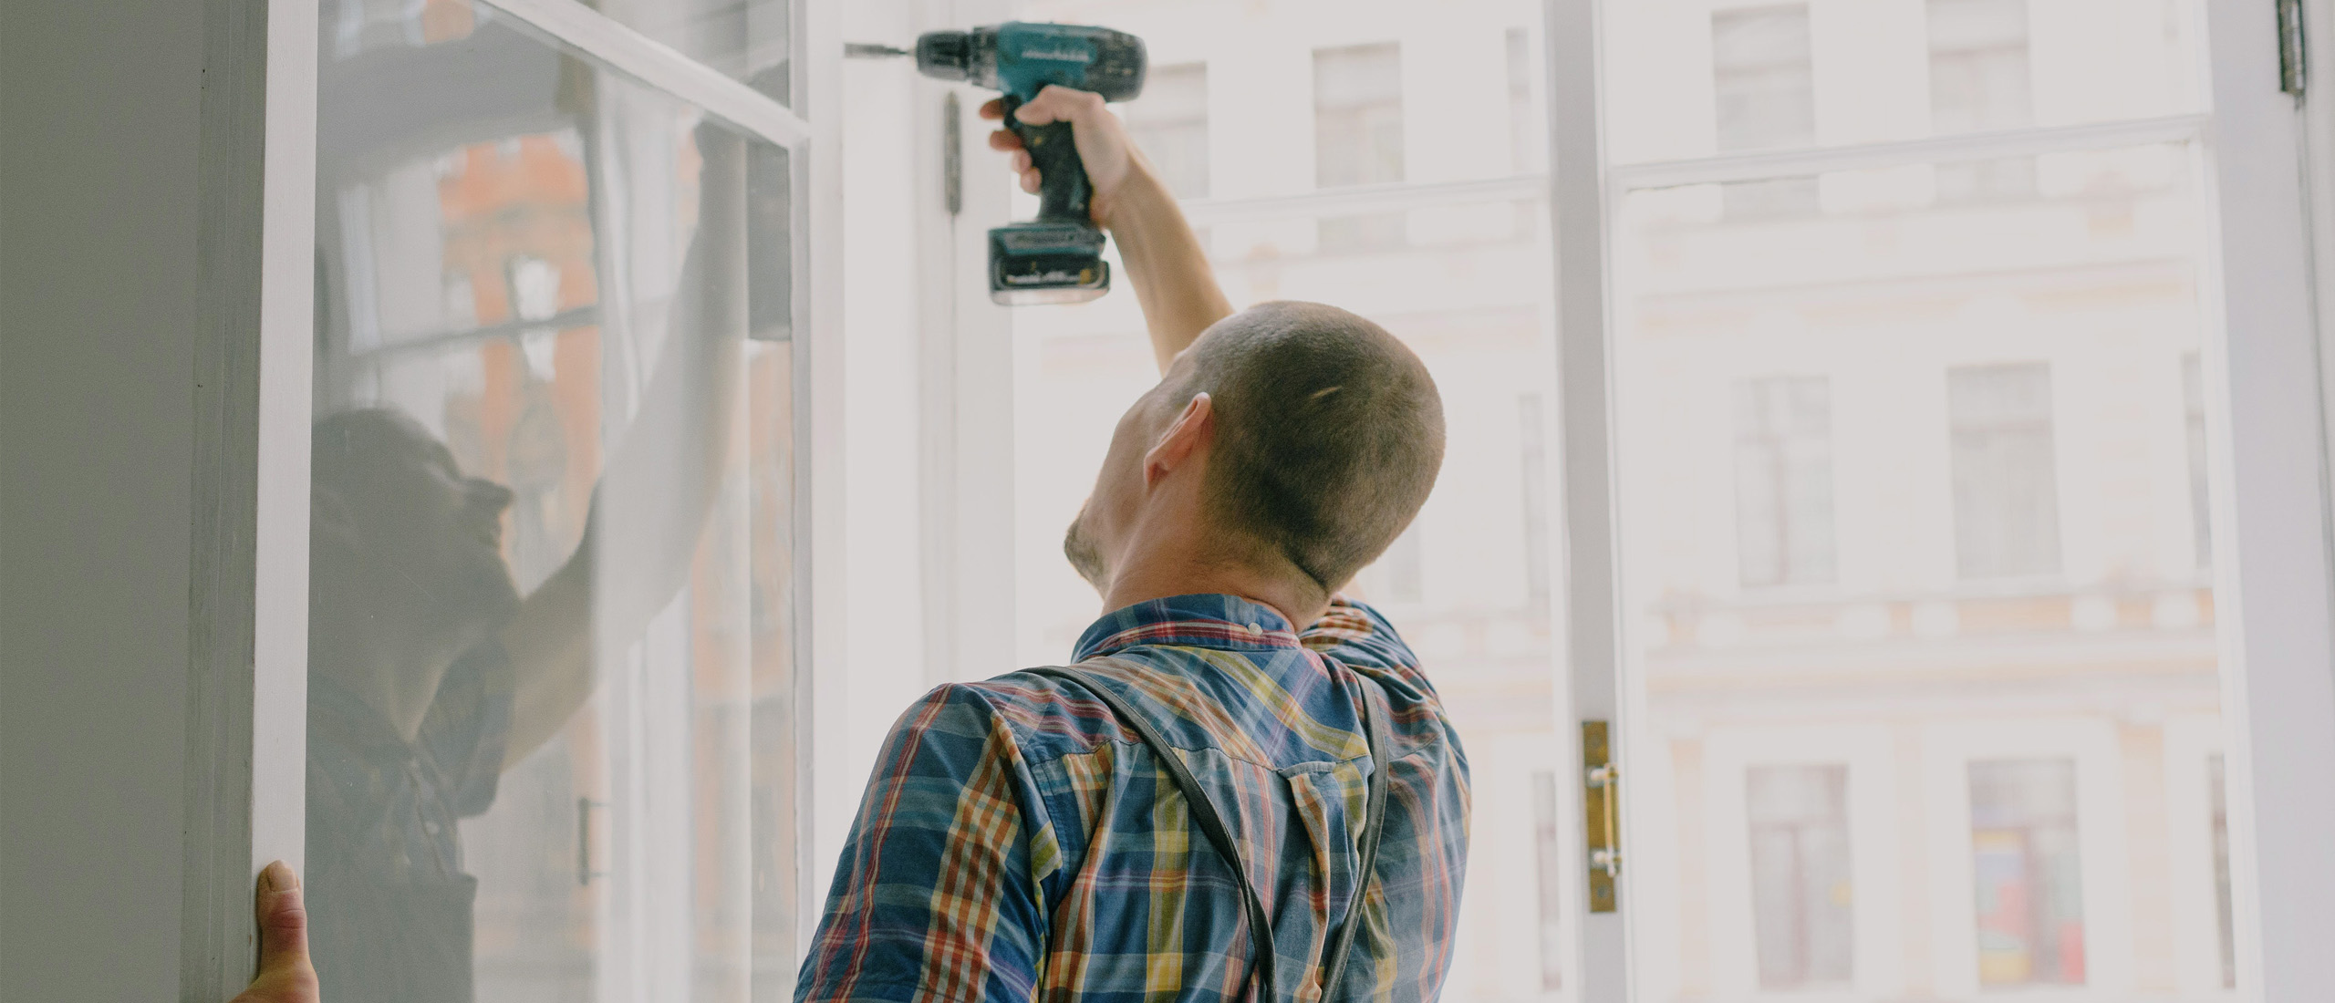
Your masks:
{"label": "faded building window directly above the one showing red colour", "polygon": [[2050,366],[1947,371],[1954,557],[1964,578],[2059,571]]}

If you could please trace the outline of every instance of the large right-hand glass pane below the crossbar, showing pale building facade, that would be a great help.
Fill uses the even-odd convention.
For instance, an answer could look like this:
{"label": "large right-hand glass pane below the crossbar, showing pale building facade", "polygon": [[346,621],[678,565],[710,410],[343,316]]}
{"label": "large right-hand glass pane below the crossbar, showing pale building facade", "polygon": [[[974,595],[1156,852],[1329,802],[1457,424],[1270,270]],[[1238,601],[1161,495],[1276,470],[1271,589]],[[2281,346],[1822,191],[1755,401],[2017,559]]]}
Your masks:
{"label": "large right-hand glass pane below the crossbar, showing pale building facade", "polygon": [[1620,198],[1627,851],[1677,875],[1630,917],[1646,998],[2179,998],[2139,945],[2216,938],[2141,856],[2190,823],[2148,807],[2162,721],[2218,711],[2190,156],[2043,154],[1985,203],[1943,163],[1826,173],[1800,217]]}

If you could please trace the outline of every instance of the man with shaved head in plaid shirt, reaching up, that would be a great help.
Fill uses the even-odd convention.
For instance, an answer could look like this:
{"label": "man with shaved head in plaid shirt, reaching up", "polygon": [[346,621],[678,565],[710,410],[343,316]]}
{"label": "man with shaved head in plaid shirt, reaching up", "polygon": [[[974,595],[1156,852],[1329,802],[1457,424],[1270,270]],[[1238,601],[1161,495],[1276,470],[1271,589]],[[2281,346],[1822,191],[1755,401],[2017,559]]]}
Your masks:
{"label": "man with shaved head in plaid shirt, reaching up", "polygon": [[[1256,1003],[1310,1001],[1343,924],[1359,935],[1338,1001],[1434,1001],[1466,858],[1466,760],[1410,648],[1340,597],[1434,485],[1434,380],[1345,310],[1235,315],[1100,98],[1046,89],[1016,114],[1072,124],[1163,371],[1118,420],[1065,539],[1107,609],[1079,667],[1184,751],[1249,861],[1273,942],[1252,942],[1233,865],[1137,732],[1079,683],[1006,674],[943,686],[892,728],[796,1001],[1238,1001],[1256,949],[1275,952]],[[1037,191],[1011,133],[990,145]],[[1385,763],[1364,707],[1392,732]],[[1385,837],[1375,872],[1357,875],[1378,770]]]}

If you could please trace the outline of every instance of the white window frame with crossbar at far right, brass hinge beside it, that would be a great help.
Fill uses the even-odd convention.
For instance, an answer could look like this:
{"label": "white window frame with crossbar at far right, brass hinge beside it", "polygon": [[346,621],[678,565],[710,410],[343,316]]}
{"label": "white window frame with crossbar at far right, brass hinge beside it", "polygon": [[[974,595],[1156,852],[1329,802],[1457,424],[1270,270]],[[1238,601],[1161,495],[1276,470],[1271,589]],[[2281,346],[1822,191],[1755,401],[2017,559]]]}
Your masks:
{"label": "white window frame with crossbar at far right, brass hinge beside it", "polygon": [[[2321,406],[2314,310],[2335,324],[2335,254],[2316,264],[2323,299],[2314,306],[2300,173],[2305,117],[2279,91],[2274,5],[2202,0],[2211,112],[2092,126],[2043,126],[1978,135],[1707,156],[1609,166],[1604,156],[1599,7],[1604,0],[1546,0],[1550,212],[1557,250],[1557,341],[1562,415],[1562,511],[1567,529],[1564,625],[1574,721],[1620,718],[1616,753],[1627,756],[1630,711],[1620,681],[1623,634],[1616,557],[1613,380],[1609,229],[1620,194],[1646,187],[1812,175],[1924,163],[1945,156],[2015,156],[2148,142],[2188,142],[2207,168],[2204,196],[2218,233],[2209,257],[2202,350],[2214,464],[2216,595],[2221,606],[2223,714],[2228,753],[2232,900],[2239,984],[2270,1001],[2335,998],[2335,616],[2326,497],[2330,418]],[[2321,28],[2335,2],[2312,0]],[[2321,37],[2328,37],[2321,30]],[[2321,49],[2328,49],[2321,44]],[[2335,79],[2328,54],[2314,54]],[[2328,86],[2328,84],[2321,84]],[[2335,107],[2335,103],[2321,103]],[[2335,112],[2314,107],[2309,128],[2335,152]],[[2314,208],[2321,240],[2335,243],[2335,184]],[[2211,334],[2211,331],[2209,331]],[[1623,774],[1630,777],[1627,763]],[[1627,784],[1625,784],[1625,791]],[[2277,791],[2277,798],[2253,798]],[[1653,795],[1637,791],[1639,798]],[[1623,830],[1634,814],[1623,805]],[[1627,835],[1625,835],[1627,844]],[[2090,870],[2090,863],[2087,863]],[[2263,879],[2260,875],[2274,875]],[[1623,912],[1583,905],[1581,1001],[1632,996],[1634,947],[1625,935],[1632,900],[1649,875],[1623,870]],[[2090,910],[2090,905],[2087,905]]]}

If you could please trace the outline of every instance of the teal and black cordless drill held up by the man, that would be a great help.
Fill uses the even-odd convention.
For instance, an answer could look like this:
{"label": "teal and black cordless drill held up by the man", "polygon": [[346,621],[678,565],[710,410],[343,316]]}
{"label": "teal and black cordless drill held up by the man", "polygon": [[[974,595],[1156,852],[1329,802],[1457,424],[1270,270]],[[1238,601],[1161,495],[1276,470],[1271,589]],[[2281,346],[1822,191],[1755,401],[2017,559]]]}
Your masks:
{"label": "teal and black cordless drill held up by the man", "polygon": [[915,68],[1004,91],[1006,128],[1039,170],[1037,219],[990,231],[990,299],[1006,306],[1086,303],[1111,289],[1102,231],[1088,215],[1093,187],[1069,124],[1025,126],[1013,110],[1046,84],[1128,100],[1144,89],[1144,40],[1074,23],[1006,21],[974,30],[929,30],[915,40]]}

